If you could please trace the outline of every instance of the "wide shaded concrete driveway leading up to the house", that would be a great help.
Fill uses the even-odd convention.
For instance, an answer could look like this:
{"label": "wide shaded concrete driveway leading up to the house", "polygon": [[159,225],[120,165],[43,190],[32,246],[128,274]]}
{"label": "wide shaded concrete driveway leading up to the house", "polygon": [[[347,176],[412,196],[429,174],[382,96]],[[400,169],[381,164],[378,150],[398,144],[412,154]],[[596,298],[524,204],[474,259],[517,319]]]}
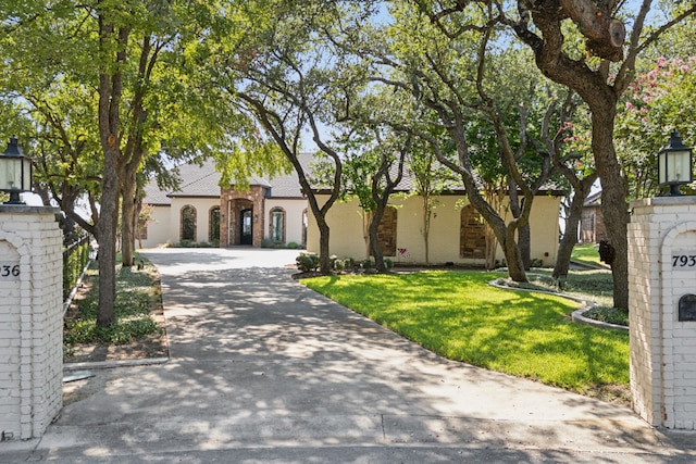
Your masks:
{"label": "wide shaded concrete driveway leading up to the house", "polygon": [[696,435],[443,360],[290,278],[297,252],[162,249],[171,360],[65,385],[0,462],[673,463]]}

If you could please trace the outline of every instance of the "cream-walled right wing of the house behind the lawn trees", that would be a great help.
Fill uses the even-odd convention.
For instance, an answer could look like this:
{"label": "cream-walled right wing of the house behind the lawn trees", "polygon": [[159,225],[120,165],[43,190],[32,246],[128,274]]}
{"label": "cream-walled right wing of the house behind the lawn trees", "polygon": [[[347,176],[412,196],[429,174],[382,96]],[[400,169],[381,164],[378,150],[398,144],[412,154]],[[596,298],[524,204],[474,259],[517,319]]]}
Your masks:
{"label": "cream-walled right wing of the house behind the lawn trees", "polygon": [[[558,251],[558,214],[560,197],[539,192],[534,199],[530,225],[532,231],[531,258],[543,265],[552,266]],[[326,196],[320,196],[323,204]],[[435,198],[433,210],[428,262],[458,265],[485,265],[486,226],[465,193],[452,190]],[[378,239],[385,258],[395,263],[425,263],[425,246],[422,236],[423,205],[420,197],[396,196],[380,224]],[[508,218],[509,220],[509,218]],[[363,220],[357,200],[336,203],[328,211],[330,252],[339,259],[364,259],[366,243],[363,239]],[[319,252],[319,227],[310,214],[307,250]],[[498,247],[497,260],[502,260]]]}

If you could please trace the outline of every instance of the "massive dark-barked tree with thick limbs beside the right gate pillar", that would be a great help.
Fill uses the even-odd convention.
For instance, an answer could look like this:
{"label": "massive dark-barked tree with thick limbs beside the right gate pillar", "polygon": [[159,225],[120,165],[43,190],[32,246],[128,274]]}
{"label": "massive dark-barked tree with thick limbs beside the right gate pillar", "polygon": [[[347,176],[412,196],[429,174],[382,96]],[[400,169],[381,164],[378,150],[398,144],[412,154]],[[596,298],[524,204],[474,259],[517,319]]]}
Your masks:
{"label": "massive dark-barked tree with thick limbs beside the right gate pillar", "polygon": [[[430,1],[418,1],[421,8],[430,9]],[[623,2],[614,0],[519,0],[518,13],[506,12],[504,2],[496,2],[497,15],[488,23],[501,23],[514,30],[517,36],[533,51],[535,63],[545,76],[566,85],[587,103],[592,113],[592,148],[597,172],[602,185],[602,213],[607,235],[616,250],[611,263],[613,275],[613,300],[616,308],[627,309],[627,208],[626,184],[623,170],[613,146],[617,104],[631,81],[637,54],[660,34],[674,24],[692,16],[696,5],[678,7],[674,16],[657,27],[641,42],[641,34],[650,10],[650,0],[643,0],[633,22],[627,51],[623,46],[625,28],[616,18]],[[457,15],[467,8],[490,4],[483,1],[458,2],[449,9],[431,13],[437,24],[456,23]],[[475,27],[475,26],[470,26]],[[481,27],[481,23],[477,27]],[[585,53],[576,54],[567,46],[568,35],[581,34],[586,40]],[[618,70],[611,63],[619,63]]]}

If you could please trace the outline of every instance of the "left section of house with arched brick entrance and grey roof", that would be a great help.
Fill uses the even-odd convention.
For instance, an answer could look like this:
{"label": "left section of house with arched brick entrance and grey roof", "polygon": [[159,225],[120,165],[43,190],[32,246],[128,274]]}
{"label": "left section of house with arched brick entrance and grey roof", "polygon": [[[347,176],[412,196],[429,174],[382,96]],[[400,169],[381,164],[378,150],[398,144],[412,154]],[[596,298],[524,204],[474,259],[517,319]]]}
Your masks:
{"label": "left section of house with arched brick entrance and grey roof", "polygon": [[307,199],[295,173],[271,180],[251,178],[248,190],[238,191],[234,185],[220,187],[212,161],[178,171],[178,190],[162,191],[154,181],[146,186],[142,202],[152,213],[140,231],[142,247],[181,241],[219,241],[220,247],[306,242]]}

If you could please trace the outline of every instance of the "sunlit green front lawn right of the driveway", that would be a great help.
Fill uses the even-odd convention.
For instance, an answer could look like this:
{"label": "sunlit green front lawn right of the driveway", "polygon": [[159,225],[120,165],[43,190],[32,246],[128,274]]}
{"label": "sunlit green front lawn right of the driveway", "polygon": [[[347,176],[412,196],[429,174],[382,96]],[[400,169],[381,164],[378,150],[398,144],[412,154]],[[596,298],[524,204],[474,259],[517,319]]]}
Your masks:
{"label": "sunlit green front lawn right of the driveway", "polygon": [[629,335],[574,324],[570,300],[497,289],[501,274],[345,275],[304,285],[451,360],[589,394],[629,385]]}

